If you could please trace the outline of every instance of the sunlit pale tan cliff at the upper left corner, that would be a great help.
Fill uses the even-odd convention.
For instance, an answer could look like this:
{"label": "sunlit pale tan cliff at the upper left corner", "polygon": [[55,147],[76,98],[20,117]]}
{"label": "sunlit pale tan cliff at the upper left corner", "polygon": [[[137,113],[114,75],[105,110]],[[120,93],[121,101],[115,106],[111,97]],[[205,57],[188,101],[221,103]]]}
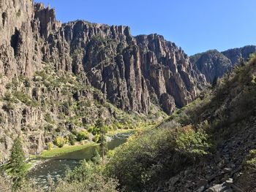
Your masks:
{"label": "sunlit pale tan cliff at the upper left corner", "polygon": [[0,72],[7,77],[31,76],[41,64],[31,1],[1,1]]}

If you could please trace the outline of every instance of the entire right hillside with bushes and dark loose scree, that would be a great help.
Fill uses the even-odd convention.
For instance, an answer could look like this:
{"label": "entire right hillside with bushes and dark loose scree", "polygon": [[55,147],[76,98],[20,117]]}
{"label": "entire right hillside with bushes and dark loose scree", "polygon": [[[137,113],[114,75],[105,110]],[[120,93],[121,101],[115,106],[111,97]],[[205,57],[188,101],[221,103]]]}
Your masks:
{"label": "entire right hillside with bushes and dark loose scree", "polygon": [[130,139],[107,166],[127,191],[255,191],[256,55]]}

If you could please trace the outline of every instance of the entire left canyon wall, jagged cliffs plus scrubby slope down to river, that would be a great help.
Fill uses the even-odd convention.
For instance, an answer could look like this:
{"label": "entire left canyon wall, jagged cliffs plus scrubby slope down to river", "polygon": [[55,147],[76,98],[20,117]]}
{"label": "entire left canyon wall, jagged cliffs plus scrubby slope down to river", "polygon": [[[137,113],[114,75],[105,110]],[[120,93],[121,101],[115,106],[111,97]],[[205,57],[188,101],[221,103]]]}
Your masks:
{"label": "entire left canyon wall, jagged cliffs plus scrubby slope down to river", "polygon": [[[23,135],[27,153],[97,118],[113,127],[157,120],[206,83],[188,56],[157,34],[77,20],[31,0],[1,0],[0,149]],[[30,144],[29,144],[30,143]]]}

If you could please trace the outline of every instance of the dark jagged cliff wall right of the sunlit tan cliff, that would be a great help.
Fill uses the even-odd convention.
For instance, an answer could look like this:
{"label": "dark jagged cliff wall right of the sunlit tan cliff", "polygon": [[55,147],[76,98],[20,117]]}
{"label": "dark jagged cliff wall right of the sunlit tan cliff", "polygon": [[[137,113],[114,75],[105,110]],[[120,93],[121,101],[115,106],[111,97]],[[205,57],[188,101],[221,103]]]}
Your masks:
{"label": "dark jagged cliff wall right of the sunlit tan cliff", "polygon": [[[42,5],[36,7],[39,20],[45,18],[42,12],[50,15]],[[52,31],[48,37],[43,33],[47,42],[43,60],[77,74],[122,110],[147,114],[150,103],[162,106],[160,98],[167,93],[173,99],[167,99],[170,109],[165,112],[173,112],[195,99],[196,78],[205,82],[184,51],[157,34],[132,37],[127,26],[86,21],[65,23],[56,30],[54,22],[50,18],[48,24],[40,24]]]}

